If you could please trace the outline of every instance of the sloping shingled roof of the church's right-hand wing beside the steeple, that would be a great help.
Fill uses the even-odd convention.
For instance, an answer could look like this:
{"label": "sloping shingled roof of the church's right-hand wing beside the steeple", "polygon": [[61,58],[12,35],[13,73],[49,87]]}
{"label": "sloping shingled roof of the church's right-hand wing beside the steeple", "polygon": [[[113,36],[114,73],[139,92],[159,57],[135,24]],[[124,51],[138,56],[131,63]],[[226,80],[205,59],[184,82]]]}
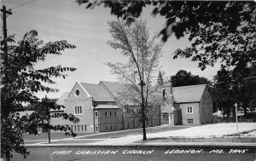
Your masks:
{"label": "sloping shingled roof of the church's right-hand wing beside the steeple", "polygon": [[173,87],[173,95],[178,103],[201,101],[206,84]]}

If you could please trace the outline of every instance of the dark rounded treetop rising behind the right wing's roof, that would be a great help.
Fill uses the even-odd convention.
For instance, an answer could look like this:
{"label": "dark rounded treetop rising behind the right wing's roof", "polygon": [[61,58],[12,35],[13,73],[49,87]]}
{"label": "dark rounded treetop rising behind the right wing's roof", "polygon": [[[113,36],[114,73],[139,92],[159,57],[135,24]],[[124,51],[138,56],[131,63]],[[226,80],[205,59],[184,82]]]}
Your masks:
{"label": "dark rounded treetop rising behind the right wing's roof", "polygon": [[171,79],[173,87],[210,83],[207,78],[192,75],[191,72],[184,70],[179,70],[175,75],[171,76]]}

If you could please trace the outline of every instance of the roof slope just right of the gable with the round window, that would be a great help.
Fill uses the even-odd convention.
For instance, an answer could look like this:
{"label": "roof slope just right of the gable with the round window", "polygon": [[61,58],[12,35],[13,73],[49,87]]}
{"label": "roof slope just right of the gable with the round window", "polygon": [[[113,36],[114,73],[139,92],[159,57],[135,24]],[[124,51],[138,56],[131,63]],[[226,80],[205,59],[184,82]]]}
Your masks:
{"label": "roof slope just right of the gable with the round window", "polygon": [[94,83],[80,83],[84,89],[93,97],[94,101],[114,101],[111,95],[108,94],[107,90],[100,84]]}

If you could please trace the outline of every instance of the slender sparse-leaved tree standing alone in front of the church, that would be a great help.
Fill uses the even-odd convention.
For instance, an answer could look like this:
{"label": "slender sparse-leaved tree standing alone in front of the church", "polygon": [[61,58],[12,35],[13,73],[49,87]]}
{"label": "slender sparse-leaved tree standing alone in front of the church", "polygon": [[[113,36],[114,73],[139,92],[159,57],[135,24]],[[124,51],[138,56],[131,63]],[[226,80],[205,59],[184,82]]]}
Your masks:
{"label": "slender sparse-leaved tree standing alone in front of the church", "polygon": [[147,140],[145,110],[155,103],[150,98],[153,98],[155,91],[154,73],[157,72],[162,45],[155,43],[156,37],[149,37],[147,24],[143,20],[136,20],[131,26],[126,26],[124,21],[111,21],[108,24],[109,32],[113,37],[113,41],[108,41],[108,44],[113,49],[119,49],[127,58],[127,62],[115,64],[108,62],[107,65],[121,83],[130,84],[125,92],[125,98],[141,107],[145,141]]}

